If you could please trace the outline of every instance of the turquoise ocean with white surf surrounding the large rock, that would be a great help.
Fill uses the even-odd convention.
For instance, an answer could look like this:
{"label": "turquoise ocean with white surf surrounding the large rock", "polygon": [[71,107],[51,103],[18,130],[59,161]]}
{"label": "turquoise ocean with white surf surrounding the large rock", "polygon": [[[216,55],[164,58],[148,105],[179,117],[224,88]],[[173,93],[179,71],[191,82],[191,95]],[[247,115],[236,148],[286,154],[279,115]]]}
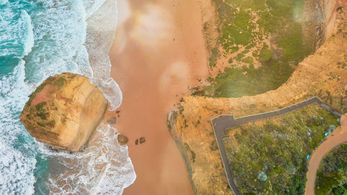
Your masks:
{"label": "turquoise ocean with white surf surrounding the large rock", "polygon": [[36,142],[19,121],[42,80],[71,71],[103,90],[110,110],[121,90],[110,78],[115,0],[0,0],[0,194],[122,194],[135,180],[128,148],[106,124],[78,153]]}

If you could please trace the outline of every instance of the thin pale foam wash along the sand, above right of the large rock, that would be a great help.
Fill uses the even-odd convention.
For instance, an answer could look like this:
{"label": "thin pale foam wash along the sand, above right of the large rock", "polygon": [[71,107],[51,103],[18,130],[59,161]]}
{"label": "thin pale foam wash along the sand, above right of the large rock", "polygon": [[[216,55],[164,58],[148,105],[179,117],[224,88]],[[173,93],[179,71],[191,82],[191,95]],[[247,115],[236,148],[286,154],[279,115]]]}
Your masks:
{"label": "thin pale foam wash along the sand, above right of the large rock", "polygon": [[92,82],[101,88],[110,102],[110,110],[119,107],[122,100],[118,84],[110,78],[111,62],[108,52],[115,38],[117,26],[117,1],[106,0],[87,19],[86,46],[94,78]]}

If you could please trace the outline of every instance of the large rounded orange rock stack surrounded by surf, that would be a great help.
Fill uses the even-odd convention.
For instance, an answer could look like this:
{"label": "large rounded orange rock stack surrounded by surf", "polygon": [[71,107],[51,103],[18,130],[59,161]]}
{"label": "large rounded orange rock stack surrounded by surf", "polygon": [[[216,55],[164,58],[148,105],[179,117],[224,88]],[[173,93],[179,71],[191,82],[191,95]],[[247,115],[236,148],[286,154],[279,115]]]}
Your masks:
{"label": "large rounded orange rock stack surrounded by surf", "polygon": [[103,93],[87,77],[63,73],[37,87],[20,119],[37,141],[79,151],[100,124],[107,106]]}

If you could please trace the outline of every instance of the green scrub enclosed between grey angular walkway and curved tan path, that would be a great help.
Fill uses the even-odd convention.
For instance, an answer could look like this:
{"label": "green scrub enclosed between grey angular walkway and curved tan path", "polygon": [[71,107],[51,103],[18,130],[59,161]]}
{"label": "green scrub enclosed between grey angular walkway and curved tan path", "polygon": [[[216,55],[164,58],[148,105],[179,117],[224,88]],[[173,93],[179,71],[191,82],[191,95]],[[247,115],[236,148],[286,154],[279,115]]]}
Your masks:
{"label": "green scrub enclosed between grey angular walkway and curved tan path", "polygon": [[305,194],[307,155],[339,126],[318,105],[241,124],[223,139],[242,194]]}

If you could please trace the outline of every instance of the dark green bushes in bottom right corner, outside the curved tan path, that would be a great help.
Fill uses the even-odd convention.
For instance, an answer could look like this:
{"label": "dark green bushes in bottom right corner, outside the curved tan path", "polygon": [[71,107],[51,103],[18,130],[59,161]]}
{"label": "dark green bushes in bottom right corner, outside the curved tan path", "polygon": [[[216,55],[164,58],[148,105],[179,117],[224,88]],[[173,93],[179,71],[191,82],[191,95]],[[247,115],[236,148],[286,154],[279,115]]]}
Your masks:
{"label": "dark green bushes in bottom right corner, outside the curved tan path", "polygon": [[337,146],[323,158],[316,175],[315,194],[347,194],[347,144]]}

